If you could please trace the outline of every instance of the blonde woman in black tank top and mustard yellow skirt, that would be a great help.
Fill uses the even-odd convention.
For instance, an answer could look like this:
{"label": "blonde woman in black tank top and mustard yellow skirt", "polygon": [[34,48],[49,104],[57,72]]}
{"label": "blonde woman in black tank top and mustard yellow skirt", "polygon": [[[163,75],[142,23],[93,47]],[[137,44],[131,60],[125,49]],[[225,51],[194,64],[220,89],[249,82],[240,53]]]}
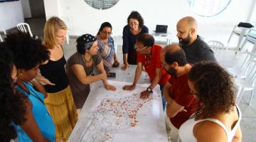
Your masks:
{"label": "blonde woman in black tank top and mustard yellow skirt", "polygon": [[40,70],[44,77],[53,82],[44,85],[48,94],[45,102],[55,123],[57,141],[67,141],[78,121],[73,94],[64,68],[66,60],[62,45],[65,43],[67,30],[65,23],[58,17],[49,18],[43,30],[43,45],[50,51],[50,59],[45,65],[40,66]]}

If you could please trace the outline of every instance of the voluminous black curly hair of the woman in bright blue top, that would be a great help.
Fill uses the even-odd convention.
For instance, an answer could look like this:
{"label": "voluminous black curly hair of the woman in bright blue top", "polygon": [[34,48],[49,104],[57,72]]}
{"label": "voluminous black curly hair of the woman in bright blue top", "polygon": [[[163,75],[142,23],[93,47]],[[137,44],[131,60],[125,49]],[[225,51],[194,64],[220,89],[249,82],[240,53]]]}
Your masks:
{"label": "voluminous black curly hair of the woman in bright blue top", "polygon": [[14,64],[18,69],[31,70],[50,58],[50,52],[41,44],[41,40],[31,38],[28,33],[8,34],[5,44],[14,54]]}

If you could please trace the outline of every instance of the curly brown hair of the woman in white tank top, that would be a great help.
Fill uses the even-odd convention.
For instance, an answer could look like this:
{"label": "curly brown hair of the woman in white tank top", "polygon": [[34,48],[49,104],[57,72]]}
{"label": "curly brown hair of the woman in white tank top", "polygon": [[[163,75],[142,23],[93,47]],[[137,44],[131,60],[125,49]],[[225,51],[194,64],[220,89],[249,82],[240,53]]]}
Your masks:
{"label": "curly brown hair of the woman in white tank top", "polygon": [[[198,62],[188,72],[188,80],[197,90],[198,108],[196,119],[206,119],[220,112],[228,113],[235,106],[235,88],[227,71],[216,62]],[[201,111],[199,110],[201,109]]]}

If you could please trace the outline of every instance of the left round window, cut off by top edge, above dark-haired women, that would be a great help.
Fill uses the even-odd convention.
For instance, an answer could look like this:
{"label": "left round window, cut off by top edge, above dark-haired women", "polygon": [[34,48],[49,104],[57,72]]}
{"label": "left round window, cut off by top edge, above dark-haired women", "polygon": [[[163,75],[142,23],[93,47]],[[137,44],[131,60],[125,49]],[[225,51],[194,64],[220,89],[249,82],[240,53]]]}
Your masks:
{"label": "left round window, cut off by top edge, above dark-haired women", "polygon": [[119,0],[85,0],[86,4],[92,6],[95,9],[110,9],[117,4]]}

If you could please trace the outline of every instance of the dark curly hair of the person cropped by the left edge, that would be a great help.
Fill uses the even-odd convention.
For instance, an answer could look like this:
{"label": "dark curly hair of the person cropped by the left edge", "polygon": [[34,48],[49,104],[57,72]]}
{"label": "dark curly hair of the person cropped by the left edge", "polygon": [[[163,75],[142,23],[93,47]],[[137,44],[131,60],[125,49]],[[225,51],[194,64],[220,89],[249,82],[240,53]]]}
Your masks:
{"label": "dark curly hair of the person cropped by the left edge", "polygon": [[14,92],[14,82],[11,79],[11,71],[14,67],[13,56],[4,44],[0,44],[0,141],[10,141],[16,138],[17,133],[12,122],[23,124],[26,105],[24,97]]}

